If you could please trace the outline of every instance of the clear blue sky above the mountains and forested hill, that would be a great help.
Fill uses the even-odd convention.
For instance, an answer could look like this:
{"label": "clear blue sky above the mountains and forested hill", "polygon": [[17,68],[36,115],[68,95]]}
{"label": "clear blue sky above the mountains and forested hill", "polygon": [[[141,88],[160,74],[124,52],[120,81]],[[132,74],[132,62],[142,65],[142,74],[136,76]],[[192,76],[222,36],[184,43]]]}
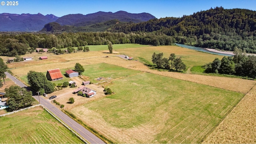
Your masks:
{"label": "clear blue sky above the mountains and forested hill", "polygon": [[[98,11],[147,12],[156,18],[182,17],[200,10],[222,6],[225,9],[256,10],[256,0],[17,0],[18,6],[0,5],[0,13],[11,14],[91,14]],[[15,0],[12,0],[15,1]]]}

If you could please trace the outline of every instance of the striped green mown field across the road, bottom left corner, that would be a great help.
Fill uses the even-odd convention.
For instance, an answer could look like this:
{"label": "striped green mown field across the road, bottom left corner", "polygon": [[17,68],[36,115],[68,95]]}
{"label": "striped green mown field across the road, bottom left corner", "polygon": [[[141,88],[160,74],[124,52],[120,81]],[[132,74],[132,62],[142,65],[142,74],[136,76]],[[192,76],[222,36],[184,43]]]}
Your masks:
{"label": "striped green mown field across the road, bottom left corner", "polygon": [[31,108],[0,117],[1,144],[81,144],[75,134],[46,110]]}

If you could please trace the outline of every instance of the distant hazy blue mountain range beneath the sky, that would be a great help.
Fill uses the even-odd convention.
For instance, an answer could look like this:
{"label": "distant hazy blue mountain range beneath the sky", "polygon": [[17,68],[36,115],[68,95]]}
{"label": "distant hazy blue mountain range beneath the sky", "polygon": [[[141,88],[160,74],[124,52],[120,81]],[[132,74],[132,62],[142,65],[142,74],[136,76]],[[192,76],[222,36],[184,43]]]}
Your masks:
{"label": "distant hazy blue mountain range beneath the sky", "polygon": [[[124,11],[96,12],[93,14],[68,14],[56,17],[53,14],[46,16],[38,14],[0,14],[0,31],[2,32],[37,32],[51,22],[56,22],[61,26],[84,27],[94,24],[104,23],[111,20],[120,22],[145,22],[155,17],[148,13],[131,14]],[[45,29],[44,29],[45,30]],[[44,31],[43,30],[43,31]]]}

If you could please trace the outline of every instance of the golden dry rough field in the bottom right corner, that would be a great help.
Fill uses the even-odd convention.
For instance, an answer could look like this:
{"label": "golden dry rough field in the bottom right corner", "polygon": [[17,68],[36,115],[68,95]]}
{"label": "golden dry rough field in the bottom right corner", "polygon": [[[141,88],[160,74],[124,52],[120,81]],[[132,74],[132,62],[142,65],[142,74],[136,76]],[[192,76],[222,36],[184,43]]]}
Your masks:
{"label": "golden dry rough field in the bottom right corner", "polygon": [[256,86],[244,96],[203,143],[256,143]]}

